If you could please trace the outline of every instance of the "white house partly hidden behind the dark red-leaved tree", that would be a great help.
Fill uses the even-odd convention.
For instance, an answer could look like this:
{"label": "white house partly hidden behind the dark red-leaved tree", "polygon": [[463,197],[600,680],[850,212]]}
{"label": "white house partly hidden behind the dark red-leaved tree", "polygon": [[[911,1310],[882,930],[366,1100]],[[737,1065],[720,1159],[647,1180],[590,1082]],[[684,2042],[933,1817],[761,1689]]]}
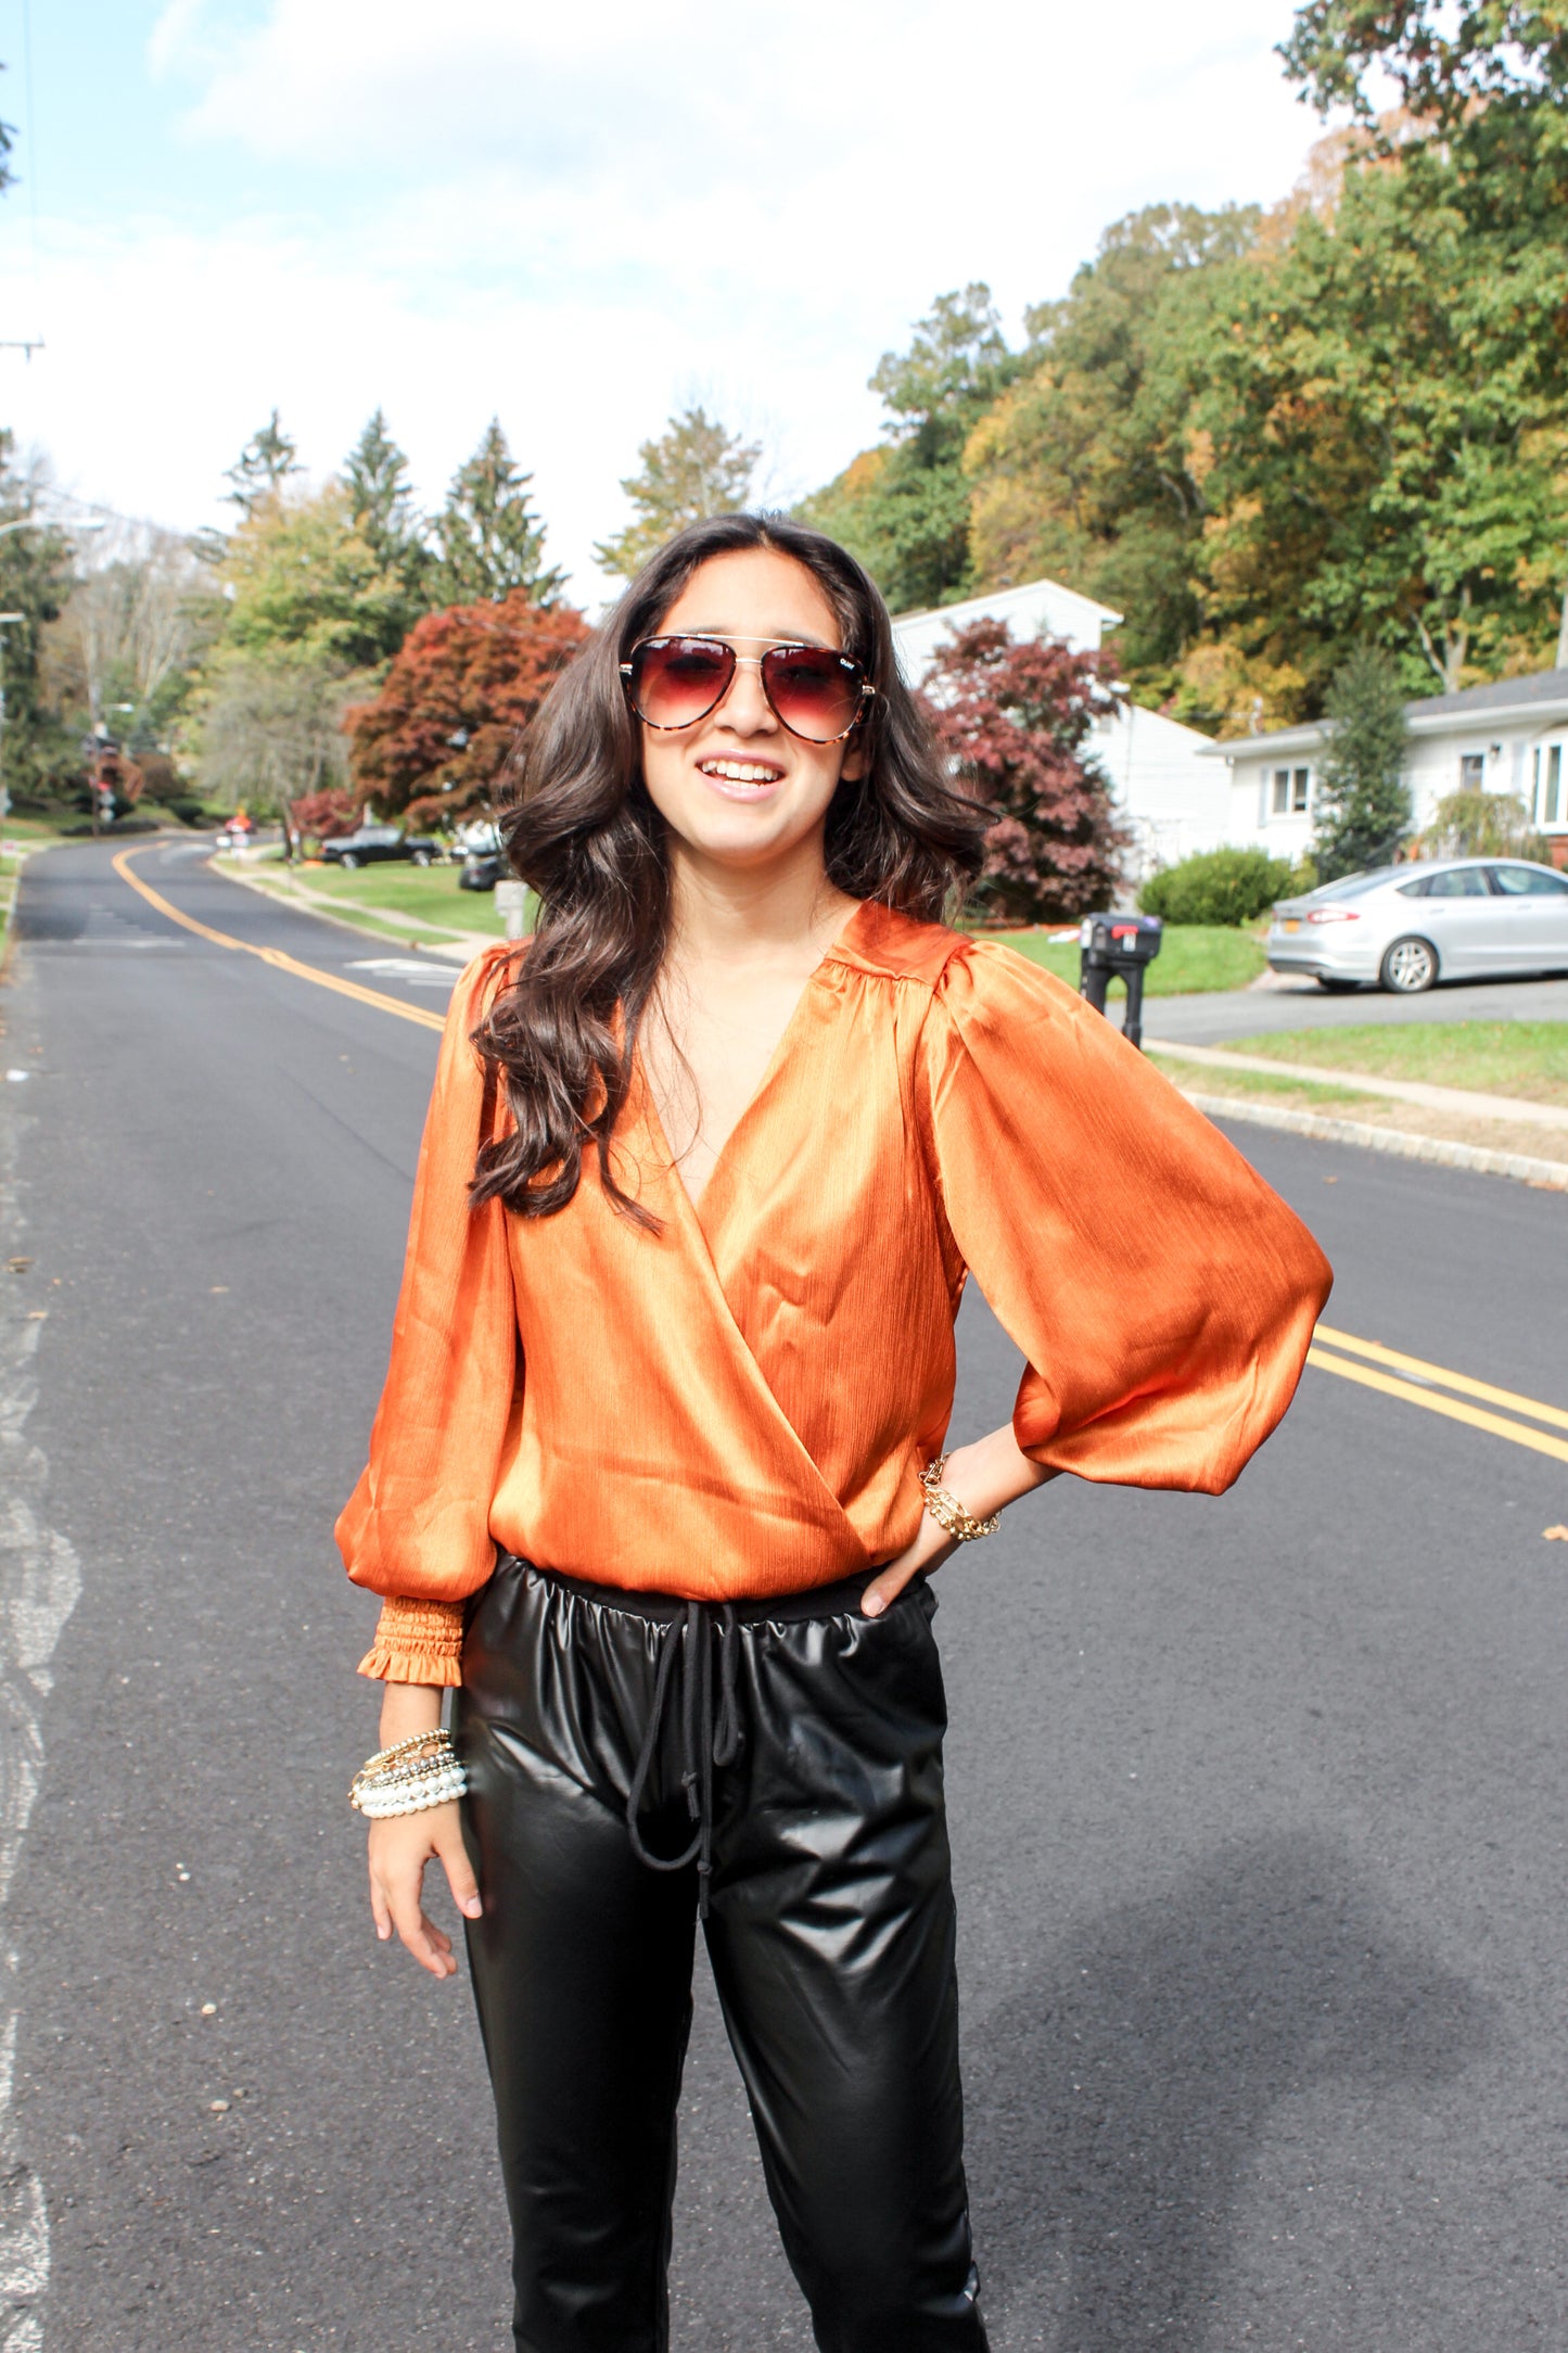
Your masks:
{"label": "white house partly hidden behind the dark red-leaved tree", "polygon": [[[893,642],[903,675],[917,687],[947,633],[971,621],[1006,621],[1013,638],[1060,638],[1079,654],[1095,654],[1105,631],[1119,619],[1110,605],[1063,588],[1060,581],[1027,581],[964,605],[898,614]],[[1208,736],[1143,711],[1121,694],[1117,715],[1093,729],[1093,751],[1133,831],[1133,880],[1227,840],[1232,791],[1225,772],[1206,760],[1213,751]]]}

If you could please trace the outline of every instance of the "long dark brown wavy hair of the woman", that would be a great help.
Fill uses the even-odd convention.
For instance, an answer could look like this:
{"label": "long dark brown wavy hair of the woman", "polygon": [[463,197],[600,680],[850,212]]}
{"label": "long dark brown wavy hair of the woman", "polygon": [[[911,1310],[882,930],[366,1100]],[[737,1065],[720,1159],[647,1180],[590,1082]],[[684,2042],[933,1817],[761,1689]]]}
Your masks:
{"label": "long dark brown wavy hair of the woman", "polygon": [[844,779],[827,809],[827,880],[851,899],[940,920],[978,873],[987,819],[950,786],[898,675],[886,605],[853,555],[783,515],[693,522],[642,567],[562,673],[520,753],[505,849],[538,892],[538,922],[475,1031],[512,1111],[512,1132],[491,1132],[480,1148],[475,1202],[501,1198],[522,1217],[550,1217],[574,1198],[592,1144],[609,1200],[654,1224],[611,1167],[637,1028],[670,939],[665,826],[642,781],[642,732],[621,664],[658,633],[698,565],[745,548],[792,555],[811,572],[844,652],[877,689],[853,739],[865,774]]}

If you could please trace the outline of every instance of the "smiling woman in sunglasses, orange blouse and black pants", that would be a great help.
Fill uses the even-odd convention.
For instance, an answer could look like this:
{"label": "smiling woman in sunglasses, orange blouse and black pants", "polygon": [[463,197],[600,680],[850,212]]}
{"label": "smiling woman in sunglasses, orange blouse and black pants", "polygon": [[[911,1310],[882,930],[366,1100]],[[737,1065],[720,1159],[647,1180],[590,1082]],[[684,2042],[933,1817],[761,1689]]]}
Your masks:
{"label": "smiling woman in sunglasses, orange blouse and black pants", "polygon": [[[376,1929],[456,1969],[440,1857],[529,2353],[668,2341],[698,1920],[818,2346],[985,2346],[926,1579],[1063,1471],[1227,1487],[1328,1289],[1095,1012],[943,925],[978,831],[860,567],[705,522],[555,687],[538,932],[454,991],[339,1539],[386,1595]],[[966,1271],[1030,1369],[943,1459]]]}

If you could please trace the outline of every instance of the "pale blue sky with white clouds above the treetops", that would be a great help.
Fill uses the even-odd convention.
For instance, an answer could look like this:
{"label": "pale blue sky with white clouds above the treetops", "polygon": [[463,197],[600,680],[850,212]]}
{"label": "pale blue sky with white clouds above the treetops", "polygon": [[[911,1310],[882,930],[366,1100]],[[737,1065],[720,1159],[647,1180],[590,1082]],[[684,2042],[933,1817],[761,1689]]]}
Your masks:
{"label": "pale blue sky with white clouds above the treetops", "polygon": [[[374,407],[440,504],[498,416],[597,602],[623,475],[703,400],[790,501],[983,278],[1016,339],[1100,231],[1274,202],[1321,134],[1288,0],[0,0],[0,424],[176,529],[282,412]],[[28,71],[31,64],[31,71]]]}

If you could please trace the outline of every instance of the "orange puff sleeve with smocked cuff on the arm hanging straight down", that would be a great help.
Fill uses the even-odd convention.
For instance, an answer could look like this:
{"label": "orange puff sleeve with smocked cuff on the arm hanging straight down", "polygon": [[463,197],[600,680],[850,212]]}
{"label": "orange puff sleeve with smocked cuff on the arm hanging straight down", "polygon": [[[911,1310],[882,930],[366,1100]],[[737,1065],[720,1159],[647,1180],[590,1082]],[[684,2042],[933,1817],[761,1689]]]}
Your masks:
{"label": "orange puff sleeve with smocked cuff on the arm hanging straight down", "polygon": [[463,1680],[463,1600],[491,1574],[489,1508],[522,1367],[505,1209],[468,1205],[484,1120],[484,1066],[470,1045],[503,979],[487,948],[451,991],[414,1179],[393,1355],[369,1464],[336,1525],[357,1586],[386,1598],[362,1675]]}

